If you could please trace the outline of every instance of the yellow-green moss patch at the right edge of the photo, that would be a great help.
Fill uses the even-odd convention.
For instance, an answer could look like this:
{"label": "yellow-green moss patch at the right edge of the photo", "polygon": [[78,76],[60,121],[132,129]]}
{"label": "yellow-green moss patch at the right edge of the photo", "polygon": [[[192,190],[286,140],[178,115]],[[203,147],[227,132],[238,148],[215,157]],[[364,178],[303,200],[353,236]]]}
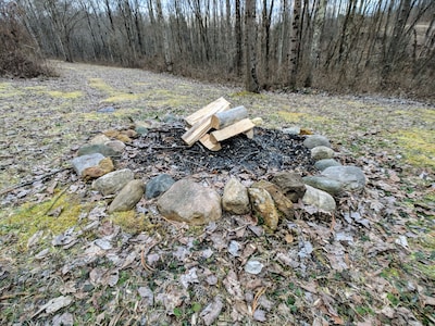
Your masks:
{"label": "yellow-green moss patch at the right edge of the photo", "polygon": [[435,170],[435,130],[409,129],[395,135],[407,163],[418,167]]}

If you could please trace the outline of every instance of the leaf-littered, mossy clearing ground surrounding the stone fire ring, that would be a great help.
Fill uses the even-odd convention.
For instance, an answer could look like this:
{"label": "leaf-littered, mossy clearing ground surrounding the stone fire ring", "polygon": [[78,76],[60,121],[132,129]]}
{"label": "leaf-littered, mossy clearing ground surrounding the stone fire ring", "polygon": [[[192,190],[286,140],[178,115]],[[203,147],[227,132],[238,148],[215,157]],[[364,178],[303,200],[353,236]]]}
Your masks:
{"label": "leaf-littered, mossy clearing ground surrounding the stone fire ring", "polygon": [[[433,106],[57,65],[59,78],[0,79],[2,325],[435,324]],[[266,127],[327,136],[339,160],[364,170],[366,190],[339,199],[334,218],[303,212],[259,235],[249,216],[172,225],[152,202],[108,215],[107,199],[69,170],[100,130],[185,116],[219,97]],[[115,113],[97,113],[107,105]],[[249,258],[264,265],[257,276],[244,272]]]}

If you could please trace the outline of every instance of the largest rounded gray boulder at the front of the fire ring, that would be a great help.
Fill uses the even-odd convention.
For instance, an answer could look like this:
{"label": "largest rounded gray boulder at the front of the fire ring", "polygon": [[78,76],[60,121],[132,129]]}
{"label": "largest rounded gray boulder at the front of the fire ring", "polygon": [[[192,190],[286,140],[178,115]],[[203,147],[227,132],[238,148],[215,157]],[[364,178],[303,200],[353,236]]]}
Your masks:
{"label": "largest rounded gray boulder at the front of the fire ring", "polygon": [[188,179],[176,181],[157,202],[167,220],[203,225],[222,216],[221,197],[211,189]]}

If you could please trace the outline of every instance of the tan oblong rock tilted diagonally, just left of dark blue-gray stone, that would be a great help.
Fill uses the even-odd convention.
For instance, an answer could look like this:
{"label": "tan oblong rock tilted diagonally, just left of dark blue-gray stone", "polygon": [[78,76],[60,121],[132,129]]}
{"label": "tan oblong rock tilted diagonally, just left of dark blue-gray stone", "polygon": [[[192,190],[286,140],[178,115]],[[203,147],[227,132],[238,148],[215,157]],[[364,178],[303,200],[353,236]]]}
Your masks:
{"label": "tan oblong rock tilted diagonally, just left of dark blue-gray stone", "polygon": [[144,196],[142,180],[132,180],[120,191],[109,206],[109,213],[133,210]]}

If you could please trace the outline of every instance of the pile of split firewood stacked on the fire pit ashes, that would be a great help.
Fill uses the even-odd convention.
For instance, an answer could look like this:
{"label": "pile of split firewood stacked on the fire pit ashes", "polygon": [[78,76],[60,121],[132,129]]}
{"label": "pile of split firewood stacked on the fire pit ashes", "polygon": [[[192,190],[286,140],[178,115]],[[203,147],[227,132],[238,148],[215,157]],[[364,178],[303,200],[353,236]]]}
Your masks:
{"label": "pile of split firewood stacked on the fire pit ashes", "polygon": [[248,138],[253,137],[254,124],[248,117],[245,106],[231,109],[231,103],[224,98],[206,105],[185,118],[188,130],[182,139],[191,146],[200,141],[211,151],[221,149],[221,141],[245,134]]}

